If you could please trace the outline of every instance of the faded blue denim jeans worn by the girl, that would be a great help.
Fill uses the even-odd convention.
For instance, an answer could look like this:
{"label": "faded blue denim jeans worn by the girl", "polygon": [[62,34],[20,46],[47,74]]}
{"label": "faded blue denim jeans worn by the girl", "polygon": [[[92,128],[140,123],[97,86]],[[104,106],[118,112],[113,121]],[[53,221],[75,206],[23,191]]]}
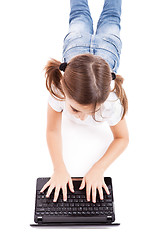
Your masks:
{"label": "faded blue denim jeans worn by the girl", "polygon": [[[97,0],[98,1],[98,0]],[[88,0],[70,0],[69,31],[63,41],[63,60],[91,53],[106,60],[117,73],[122,42],[120,39],[121,0],[105,0],[103,10],[93,33],[93,20]]]}

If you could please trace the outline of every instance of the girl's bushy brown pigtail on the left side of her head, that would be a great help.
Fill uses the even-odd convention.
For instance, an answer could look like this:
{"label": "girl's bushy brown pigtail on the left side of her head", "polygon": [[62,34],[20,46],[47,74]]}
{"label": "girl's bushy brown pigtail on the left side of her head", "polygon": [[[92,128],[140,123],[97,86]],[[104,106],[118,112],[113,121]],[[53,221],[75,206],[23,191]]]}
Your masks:
{"label": "girl's bushy brown pigtail on the left side of her head", "polygon": [[60,64],[61,62],[51,58],[44,67],[46,88],[54,98],[59,98],[58,100],[64,99],[62,97],[62,95],[64,96],[64,93],[60,82],[62,79],[62,73],[59,70]]}

